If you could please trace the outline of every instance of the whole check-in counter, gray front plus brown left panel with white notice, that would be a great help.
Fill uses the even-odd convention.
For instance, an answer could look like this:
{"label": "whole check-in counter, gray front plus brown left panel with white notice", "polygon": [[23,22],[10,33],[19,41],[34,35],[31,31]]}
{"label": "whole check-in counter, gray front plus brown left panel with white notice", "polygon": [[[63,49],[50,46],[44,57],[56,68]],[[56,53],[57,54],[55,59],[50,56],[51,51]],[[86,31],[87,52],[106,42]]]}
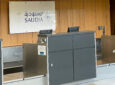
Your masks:
{"label": "whole check-in counter, gray front plus brown left panel with white notice", "polygon": [[48,85],[60,85],[96,77],[94,32],[41,34],[23,48],[25,78],[46,75]]}

